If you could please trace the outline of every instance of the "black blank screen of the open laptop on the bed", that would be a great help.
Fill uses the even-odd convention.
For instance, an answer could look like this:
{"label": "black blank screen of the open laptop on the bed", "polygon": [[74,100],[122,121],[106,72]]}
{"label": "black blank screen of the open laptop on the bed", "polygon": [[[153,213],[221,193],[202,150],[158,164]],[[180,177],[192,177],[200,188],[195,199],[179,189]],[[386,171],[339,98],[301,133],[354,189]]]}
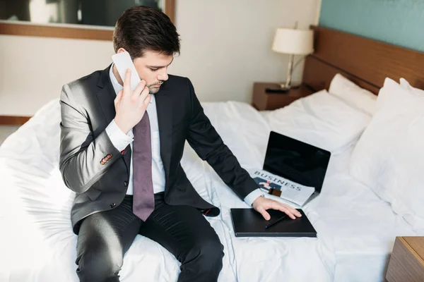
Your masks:
{"label": "black blank screen of the open laptop on the bed", "polygon": [[271,131],[264,171],[321,192],[331,153],[307,143]]}

